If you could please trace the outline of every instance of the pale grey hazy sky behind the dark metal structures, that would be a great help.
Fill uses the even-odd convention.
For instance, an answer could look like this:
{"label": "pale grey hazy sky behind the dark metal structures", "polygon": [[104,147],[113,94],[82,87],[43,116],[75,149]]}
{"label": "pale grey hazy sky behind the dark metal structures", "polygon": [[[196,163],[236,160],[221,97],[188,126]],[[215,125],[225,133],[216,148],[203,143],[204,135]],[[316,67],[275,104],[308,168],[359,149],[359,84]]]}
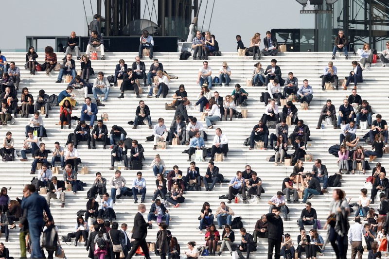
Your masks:
{"label": "pale grey hazy sky behind the dark metal structures", "polygon": [[[152,0],[148,0],[149,4],[151,2]],[[205,29],[209,27],[213,0],[208,0],[208,2]],[[237,34],[242,36],[243,43],[247,46],[249,38],[256,32],[260,33],[263,38],[265,32],[272,28],[313,28],[313,15],[300,15],[302,6],[297,1],[272,0],[271,7],[265,7],[268,2],[266,0],[215,0],[210,31],[216,36],[222,52],[236,50],[235,35]],[[96,3],[96,0],[92,0],[94,13],[97,12]],[[206,4],[207,1],[203,0],[199,14],[199,27],[204,20]],[[63,2],[58,0],[18,0],[18,6],[18,17],[25,17],[23,19],[15,17],[15,12],[2,13],[2,20],[13,20],[18,28],[17,31],[7,33],[9,40],[4,38],[1,40],[0,49],[3,52],[8,49],[24,49],[26,35],[67,36],[71,31],[75,31],[76,35],[87,35],[87,22],[82,0],[67,0],[65,9],[69,7],[70,10],[66,10],[66,14],[61,14],[59,11]],[[85,0],[85,8],[88,22],[90,22],[92,11],[88,0]],[[63,9],[64,12],[65,9]],[[312,8],[308,6],[306,9]],[[141,13],[143,14],[143,11]],[[39,42],[39,49],[44,48],[46,43],[50,44],[50,42]]]}

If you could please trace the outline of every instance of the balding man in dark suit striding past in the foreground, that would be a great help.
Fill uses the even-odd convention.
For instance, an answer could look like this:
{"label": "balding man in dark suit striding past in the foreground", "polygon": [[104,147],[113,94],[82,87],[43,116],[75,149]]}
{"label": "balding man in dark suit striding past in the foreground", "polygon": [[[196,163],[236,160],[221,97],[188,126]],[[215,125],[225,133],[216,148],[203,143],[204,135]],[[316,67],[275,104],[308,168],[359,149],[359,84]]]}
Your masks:
{"label": "balding man in dark suit striding past in the foreground", "polygon": [[135,252],[139,246],[141,246],[143,250],[144,257],[146,259],[151,259],[146,242],[147,227],[151,226],[151,221],[146,222],[144,220],[142,215],[144,212],[146,212],[146,206],[144,206],[144,204],[138,205],[138,213],[135,215],[134,227],[132,229],[132,238],[135,239],[135,241],[132,242],[131,251],[128,253],[125,259],[131,259],[135,255]]}

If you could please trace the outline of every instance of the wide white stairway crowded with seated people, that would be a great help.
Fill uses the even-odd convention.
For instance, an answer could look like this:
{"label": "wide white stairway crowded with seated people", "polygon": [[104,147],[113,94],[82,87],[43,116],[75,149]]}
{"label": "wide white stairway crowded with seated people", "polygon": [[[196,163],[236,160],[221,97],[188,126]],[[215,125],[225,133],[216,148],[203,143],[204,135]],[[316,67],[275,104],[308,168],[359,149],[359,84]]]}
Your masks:
{"label": "wide white stairway crowded with seated people", "polygon": [[[66,89],[67,84],[61,83],[56,84],[58,72],[51,72],[50,76],[47,76],[45,72],[36,72],[35,76],[29,74],[29,70],[25,70],[25,53],[3,53],[7,60],[15,61],[16,65],[21,68],[21,83],[19,89],[22,87],[28,87],[30,93],[36,98],[38,91],[44,89],[47,94],[51,95],[53,93],[59,94],[60,91]],[[39,57],[37,61],[39,63],[44,62],[44,53],[38,53]],[[115,65],[118,64],[119,59],[124,59],[128,67],[131,66],[132,62],[135,61],[135,52],[113,52],[106,54],[106,60],[92,60],[92,67],[96,73],[98,71],[103,71],[106,76],[113,75]],[[63,53],[57,53],[58,60],[63,57]],[[100,56],[100,55],[99,55]],[[177,52],[164,52],[164,53],[155,53],[155,58],[159,59],[159,62],[163,64],[163,68],[169,72],[171,75],[175,75],[178,79],[171,80],[170,82],[170,91],[166,99],[152,98],[146,99],[147,87],[143,86],[143,94],[141,99],[136,99],[133,93],[128,91],[124,94],[124,99],[118,99],[117,96],[120,95],[120,87],[111,87],[111,91],[108,97],[105,107],[99,107],[98,118],[100,118],[103,112],[108,113],[109,121],[106,121],[105,124],[110,130],[112,125],[119,125],[124,127],[127,132],[127,137],[132,139],[137,139],[144,147],[144,155],[146,161],[143,166],[143,177],[146,179],[147,183],[147,194],[145,199],[147,212],[151,206],[151,198],[153,191],[155,190],[155,178],[150,165],[156,154],[159,154],[164,160],[167,169],[172,169],[174,165],[177,165],[180,170],[186,173],[186,168],[189,167],[189,162],[187,162],[187,154],[181,154],[183,150],[187,149],[187,146],[167,146],[165,150],[153,150],[153,142],[145,142],[146,137],[152,135],[152,130],[148,129],[147,125],[141,125],[138,129],[132,129],[132,125],[128,125],[127,121],[134,121],[135,118],[135,109],[138,106],[140,100],[145,101],[145,104],[150,107],[151,118],[153,125],[158,121],[158,118],[163,118],[165,120],[165,125],[169,128],[171,121],[173,121],[174,111],[166,111],[164,109],[165,103],[172,102],[172,95],[178,89],[178,86],[183,84],[185,89],[188,92],[188,98],[191,102],[196,102],[197,94],[200,91],[200,87],[196,84],[196,77],[198,69],[202,66],[201,60],[192,60],[190,57],[188,60],[179,60],[179,53]],[[287,78],[287,73],[292,71],[294,75],[299,79],[299,86],[302,86],[303,79],[308,79],[309,84],[314,89],[314,98],[312,103],[309,106],[309,110],[303,111],[299,109],[299,119],[302,119],[305,124],[308,124],[311,131],[312,141],[308,144],[307,153],[313,155],[314,160],[320,158],[322,163],[327,166],[329,170],[329,175],[333,175],[338,171],[336,165],[336,157],[328,153],[328,148],[334,144],[339,144],[339,134],[340,130],[334,130],[332,125],[325,126],[324,130],[316,130],[318,123],[318,117],[321,107],[326,103],[327,99],[331,99],[333,104],[335,104],[336,109],[339,105],[343,103],[343,99],[351,94],[351,89],[353,84],[349,86],[347,91],[341,90],[342,87],[339,87],[339,91],[322,91],[321,90],[321,79],[319,76],[322,74],[323,68],[331,60],[330,52],[292,52],[292,53],[281,53],[276,57],[262,57],[260,62],[262,67],[265,69],[267,65],[270,65],[270,60],[272,58],[277,59],[277,65],[281,67],[283,72],[283,78]],[[358,56],[349,56],[349,60],[345,60],[344,56],[337,55],[336,60],[334,60],[334,65],[337,67],[337,74],[339,78],[348,76],[349,72],[352,70],[351,62],[353,60],[359,61]],[[144,58],[142,61],[146,64],[146,70],[150,68],[152,61],[150,59]],[[269,205],[267,201],[278,191],[281,190],[282,180],[289,176],[293,171],[292,166],[283,166],[279,165],[278,167],[274,166],[273,162],[267,162],[266,157],[273,155],[273,150],[248,150],[247,146],[243,145],[243,142],[246,138],[249,137],[251,130],[255,124],[258,123],[262,114],[264,113],[265,107],[263,103],[260,103],[259,99],[261,92],[265,89],[264,87],[247,87],[246,80],[251,78],[253,65],[258,62],[258,60],[251,60],[248,58],[243,58],[237,56],[237,53],[227,52],[223,53],[222,56],[212,56],[209,58],[209,66],[212,67],[212,77],[218,76],[218,71],[222,67],[222,62],[226,61],[230,66],[232,73],[232,81],[230,87],[214,87],[213,91],[218,91],[223,98],[227,94],[231,94],[234,89],[235,84],[240,84],[248,92],[248,118],[246,119],[235,119],[232,121],[218,121],[212,130],[206,129],[208,134],[208,141],[206,142],[207,147],[212,146],[212,139],[215,135],[215,128],[220,127],[229,138],[229,148],[230,152],[228,153],[228,158],[223,162],[215,162],[215,165],[219,167],[219,172],[222,173],[225,178],[231,179],[235,176],[236,171],[245,170],[245,165],[249,164],[252,170],[258,173],[258,176],[262,179],[263,186],[265,188],[265,193],[261,196],[262,199],[259,203],[252,204],[243,204],[242,201],[239,201],[238,204],[232,203],[230,206],[235,212],[236,216],[241,216],[243,220],[244,227],[249,233],[252,233],[254,230],[254,225],[256,221],[261,217],[262,214],[268,212]],[[80,69],[79,62],[76,60],[76,68]],[[362,99],[368,100],[370,102],[373,111],[375,114],[382,114],[383,119],[388,119],[389,112],[385,107],[388,102],[389,89],[385,86],[388,81],[387,68],[382,68],[381,63],[373,64],[369,71],[363,73],[364,82],[358,84],[358,94],[361,95]],[[92,76],[90,82],[93,82],[95,76]],[[62,81],[63,82],[63,81]],[[78,101],[78,109],[73,111],[73,116],[80,116],[81,104],[83,102],[83,92],[74,91]],[[379,93],[379,94],[378,94]],[[18,94],[20,97],[20,91]],[[191,106],[191,105],[190,105]],[[297,104],[300,108],[300,104]],[[189,107],[188,107],[189,108]],[[239,108],[240,109],[240,108]],[[281,110],[281,109],[280,109]],[[192,108],[188,109],[188,114],[197,117],[200,119],[199,112]],[[373,119],[375,118],[373,115]],[[32,115],[30,115],[31,118]],[[5,138],[7,131],[12,132],[12,136],[15,139],[15,148],[19,157],[14,162],[1,162],[0,163],[0,174],[1,174],[1,184],[0,187],[7,187],[11,199],[15,199],[17,196],[20,198],[22,196],[22,189],[25,184],[30,183],[34,175],[30,174],[31,162],[33,161],[31,155],[28,155],[28,162],[20,162],[20,149],[22,148],[23,140],[25,139],[25,125],[29,119],[21,119],[18,116],[15,124],[8,124],[6,126],[0,126],[0,136]],[[57,125],[59,121],[59,107],[53,107],[50,111],[50,116],[48,119],[44,119],[44,126],[47,130],[47,138],[43,138],[43,141],[46,144],[47,149],[53,149],[54,142],[59,141],[61,146],[66,143],[68,134],[73,132],[74,127],[70,129],[60,129],[60,126]],[[205,122],[203,122],[205,125]],[[294,129],[294,126],[289,127],[289,132],[291,133]],[[270,133],[274,130],[270,130]],[[362,137],[367,133],[367,130],[357,130],[357,136]],[[370,149],[371,147],[366,145],[366,143],[360,143],[365,148]],[[289,147],[290,148],[290,147]],[[89,167],[89,174],[78,174],[77,178],[88,184],[88,187],[84,191],[78,191],[76,195],[73,195],[71,191],[66,192],[66,205],[65,208],[61,208],[61,204],[58,200],[52,200],[51,211],[55,220],[55,224],[59,228],[59,235],[66,236],[68,233],[74,231],[74,225],[76,222],[76,212],[80,209],[86,208],[87,203],[87,190],[91,187],[91,184],[95,178],[96,172],[101,172],[103,177],[107,180],[113,175],[113,171],[108,170],[110,167],[110,150],[103,150],[100,143],[97,144],[96,150],[88,150],[85,142],[81,142],[78,146],[79,154],[82,159],[82,164]],[[292,153],[290,150],[288,153]],[[51,161],[51,155],[49,155],[49,162]],[[371,168],[373,168],[376,162],[383,163],[383,166],[386,166],[388,156],[384,155],[383,158],[376,159],[376,161],[370,163]],[[208,160],[207,160],[208,161]],[[200,174],[204,175],[207,169],[208,163],[206,162],[197,162],[196,166],[200,168]],[[311,171],[312,162],[304,163],[304,171]],[[57,164],[58,165],[58,164]],[[117,168],[117,163],[115,169]],[[81,165],[80,167],[81,168]],[[62,179],[62,172],[58,175],[59,179]],[[132,180],[136,177],[136,171],[122,171],[122,175],[127,180],[127,186],[130,187]],[[367,175],[363,175],[361,172],[356,173],[355,175],[343,175],[342,179],[342,189],[346,191],[347,198],[352,198],[352,202],[358,201],[358,196],[360,195],[360,189],[364,187],[365,179],[368,175],[371,175],[371,171],[367,172]],[[35,175],[36,176],[36,175]],[[197,220],[201,207],[204,202],[209,202],[213,212],[216,212],[216,208],[219,206],[221,201],[227,202],[227,200],[219,200],[220,195],[226,194],[228,192],[228,184],[223,183],[222,185],[217,184],[212,192],[205,192],[205,189],[202,188],[202,191],[187,191],[185,195],[185,203],[181,204],[179,208],[173,208],[172,206],[168,208],[170,210],[171,221],[169,229],[172,232],[172,235],[177,237],[179,244],[181,245],[181,255],[184,255],[183,251],[186,249],[186,244],[189,241],[195,241],[197,244],[204,244],[204,234],[199,234],[196,227],[199,225]],[[315,196],[310,200],[312,207],[315,208],[318,212],[318,219],[321,222],[321,225],[324,225],[329,211],[329,204],[332,201],[332,190],[333,188],[328,188],[328,194]],[[370,190],[369,190],[370,193]],[[135,213],[137,213],[138,204],[134,204],[132,198],[123,198],[118,199],[114,205],[114,209],[117,215],[117,222],[120,224],[127,223],[128,229],[132,229],[133,218]],[[297,248],[297,236],[299,235],[299,226],[296,221],[300,217],[301,210],[304,208],[303,204],[289,204],[290,209],[289,221],[284,221],[284,233],[290,233],[292,235],[292,240],[295,242],[295,248]],[[375,203],[374,208],[378,207],[378,203]],[[144,215],[145,218],[147,214]],[[350,224],[353,223],[354,215],[350,215],[349,220]],[[217,225],[216,219],[214,223]],[[309,226],[306,226],[306,229],[309,230]],[[158,227],[154,223],[153,229],[148,231],[147,241],[155,242],[156,234]],[[238,243],[239,239],[239,230],[236,229],[236,242]],[[327,233],[325,230],[318,230],[319,234],[326,238]],[[308,231],[307,231],[308,232]],[[204,231],[205,233],[205,231]],[[10,230],[9,242],[5,243],[6,247],[10,249],[10,255],[17,258],[19,256],[19,242],[18,242],[19,227]],[[221,230],[220,230],[221,234]],[[4,236],[0,239],[1,242],[4,242]],[[88,256],[88,252],[85,250],[85,247],[78,246],[74,247],[67,246],[62,244],[66,257],[69,259],[85,259]],[[348,250],[350,254],[350,249]],[[152,257],[157,258],[154,253],[151,254]],[[257,251],[251,254],[251,257],[255,258],[267,258],[267,240],[259,239],[257,242]],[[222,257],[230,257],[228,251],[222,253]],[[348,256],[350,257],[350,256]],[[367,255],[365,255],[367,257]],[[335,258],[335,253],[330,244],[328,244],[324,251],[324,256],[322,258]]]}

